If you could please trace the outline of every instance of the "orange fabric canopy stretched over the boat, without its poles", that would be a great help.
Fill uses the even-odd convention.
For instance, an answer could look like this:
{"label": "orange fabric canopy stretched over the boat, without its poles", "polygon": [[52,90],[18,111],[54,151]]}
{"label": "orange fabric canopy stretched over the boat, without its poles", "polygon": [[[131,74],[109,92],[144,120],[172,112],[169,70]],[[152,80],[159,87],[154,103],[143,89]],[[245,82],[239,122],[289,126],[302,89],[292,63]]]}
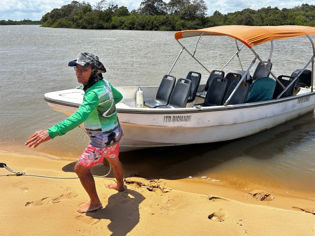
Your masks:
{"label": "orange fabric canopy stretched over the boat, without its poles", "polygon": [[175,33],[175,39],[203,35],[224,35],[243,42],[247,47],[269,42],[272,40],[293,38],[305,35],[315,35],[315,27],[299,25],[279,26],[247,26],[247,25],[223,25],[205,28],[201,30],[185,30]]}

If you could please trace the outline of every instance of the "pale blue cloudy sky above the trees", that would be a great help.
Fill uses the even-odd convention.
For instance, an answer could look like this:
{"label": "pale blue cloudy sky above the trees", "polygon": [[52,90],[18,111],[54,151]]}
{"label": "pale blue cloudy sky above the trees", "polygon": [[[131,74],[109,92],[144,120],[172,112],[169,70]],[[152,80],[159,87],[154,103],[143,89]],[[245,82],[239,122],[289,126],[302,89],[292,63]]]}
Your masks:
{"label": "pale blue cloudy sky above the trees", "polygon": [[[60,8],[63,5],[71,3],[72,0],[0,0],[0,20],[40,20],[44,14],[54,8]],[[92,6],[97,0],[86,0]],[[137,9],[141,0],[114,0],[118,6],[126,6],[129,11]],[[168,1],[165,1],[168,2]],[[212,15],[215,10],[222,14],[235,12],[244,8],[257,10],[263,7],[292,8],[302,3],[315,4],[315,0],[265,0],[265,1],[243,1],[243,0],[205,0],[208,5],[208,15]]]}

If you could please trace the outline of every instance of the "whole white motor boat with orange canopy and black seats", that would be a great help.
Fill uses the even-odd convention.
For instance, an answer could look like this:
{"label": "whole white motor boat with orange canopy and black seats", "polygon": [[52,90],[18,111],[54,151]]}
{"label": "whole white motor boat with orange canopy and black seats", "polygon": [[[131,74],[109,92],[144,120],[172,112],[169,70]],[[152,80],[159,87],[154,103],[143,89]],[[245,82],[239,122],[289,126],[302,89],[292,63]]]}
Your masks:
{"label": "whole white motor boat with orange canopy and black seats", "polygon": [[[237,52],[232,58],[238,57],[244,46],[250,48],[254,57],[247,70],[243,70],[239,57],[242,70],[226,75],[224,75],[223,69],[232,58],[220,70],[212,72],[195,58],[200,38],[213,35],[229,36],[235,39]],[[315,48],[309,35],[315,35],[314,27],[293,25],[229,25],[176,32],[175,39],[182,49],[168,75],[163,78],[166,84],[163,84],[162,80],[160,86],[141,87],[144,92],[144,101],[146,101],[144,108],[136,107],[137,86],[115,87],[123,95],[123,99],[116,104],[118,118],[124,132],[124,137],[120,142],[121,151],[241,138],[313,111],[315,108],[313,91]],[[306,39],[311,42],[313,51],[311,59],[303,69],[295,71],[290,76],[275,76],[271,70],[273,40],[302,36],[307,37],[308,39]],[[186,37],[197,37],[192,53],[181,42],[181,39]],[[238,42],[243,45],[238,47]],[[263,61],[253,47],[266,42],[271,42],[271,50],[269,58]],[[176,84],[175,77],[170,78],[173,77],[170,76],[171,70],[184,50],[209,72],[210,76],[206,84],[199,84],[200,78],[196,72],[190,73],[186,80],[178,79]],[[249,70],[256,61],[259,65],[252,77],[253,84],[255,82],[258,84],[260,78],[269,76],[272,77],[269,79],[276,81],[277,84],[268,88],[272,90],[270,90],[271,99],[248,102],[248,95],[251,96],[251,93],[254,93],[256,86],[250,87]],[[312,71],[306,70],[311,63]],[[307,77],[306,84],[301,82],[303,76]],[[295,91],[297,90],[297,79],[300,79],[300,91]],[[303,85],[304,87],[302,87]],[[250,93],[249,89],[251,89]],[[265,94],[264,89],[261,87],[260,95]],[[259,87],[255,91],[259,91]],[[168,96],[167,104],[163,104],[159,100],[159,96],[163,93]],[[81,105],[83,94],[82,90],[69,89],[46,93],[44,99],[54,110],[70,116]],[[156,104],[159,106],[156,107]]]}

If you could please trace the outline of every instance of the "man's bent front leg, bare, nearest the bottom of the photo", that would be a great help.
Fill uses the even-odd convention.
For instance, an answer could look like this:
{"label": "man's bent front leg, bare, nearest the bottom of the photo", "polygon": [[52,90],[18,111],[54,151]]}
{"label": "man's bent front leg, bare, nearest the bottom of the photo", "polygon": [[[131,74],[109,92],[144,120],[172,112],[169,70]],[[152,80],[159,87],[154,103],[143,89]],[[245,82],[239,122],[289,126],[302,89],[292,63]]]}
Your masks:
{"label": "man's bent front leg, bare, nearest the bottom of the photo", "polygon": [[76,166],[74,167],[74,172],[77,173],[82,186],[90,197],[90,201],[87,204],[77,208],[77,212],[79,213],[95,211],[102,208],[102,203],[100,202],[100,199],[97,195],[95,181],[90,169],[91,167],[82,166],[79,162],[77,162]]}

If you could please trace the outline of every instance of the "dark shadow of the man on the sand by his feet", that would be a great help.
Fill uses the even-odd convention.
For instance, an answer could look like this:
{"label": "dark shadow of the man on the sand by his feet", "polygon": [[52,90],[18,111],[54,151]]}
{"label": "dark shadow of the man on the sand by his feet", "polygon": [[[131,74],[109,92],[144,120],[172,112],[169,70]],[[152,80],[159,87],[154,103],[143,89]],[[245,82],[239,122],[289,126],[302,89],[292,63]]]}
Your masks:
{"label": "dark shadow of the man on the sand by his feet", "polygon": [[139,204],[144,199],[146,198],[135,190],[126,189],[111,195],[104,208],[87,212],[86,215],[95,219],[109,219],[111,236],[124,236],[139,223]]}

